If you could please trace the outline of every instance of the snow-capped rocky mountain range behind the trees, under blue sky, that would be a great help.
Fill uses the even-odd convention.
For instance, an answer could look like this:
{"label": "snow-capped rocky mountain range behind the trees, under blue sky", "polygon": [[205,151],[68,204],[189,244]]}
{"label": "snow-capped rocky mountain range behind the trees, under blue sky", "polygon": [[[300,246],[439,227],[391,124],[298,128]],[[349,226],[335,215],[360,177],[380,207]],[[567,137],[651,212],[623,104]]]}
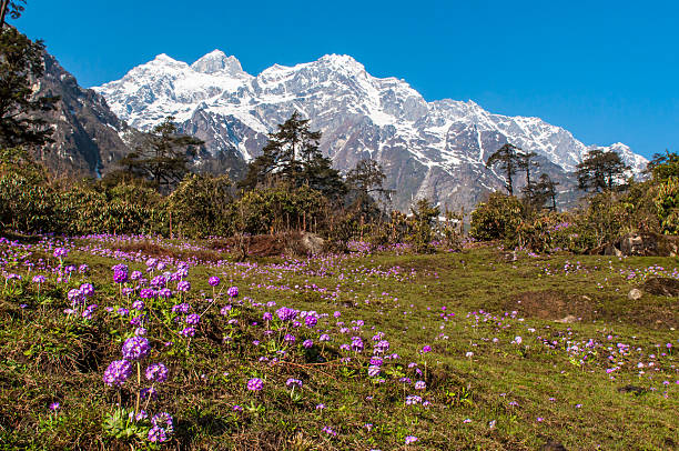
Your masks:
{"label": "snow-capped rocky mountain range behind the trees, under blue sky", "polygon": [[[427,102],[404,80],[372,77],[348,56],[274,64],[253,77],[220,50],[191,66],[160,54],[93,89],[141,130],[174,116],[183,132],[203,139],[232,169],[256,157],[266,133],[296,110],[323,132],[321,149],[336,168],[346,171],[362,158],[379,161],[399,209],[419,197],[468,208],[501,189],[501,174],[485,161],[506,142],[538,153],[543,171],[568,191],[574,183],[567,173],[591,148],[539,118],[493,114],[473,101]],[[635,172],[646,167],[625,144],[609,149]]]}

